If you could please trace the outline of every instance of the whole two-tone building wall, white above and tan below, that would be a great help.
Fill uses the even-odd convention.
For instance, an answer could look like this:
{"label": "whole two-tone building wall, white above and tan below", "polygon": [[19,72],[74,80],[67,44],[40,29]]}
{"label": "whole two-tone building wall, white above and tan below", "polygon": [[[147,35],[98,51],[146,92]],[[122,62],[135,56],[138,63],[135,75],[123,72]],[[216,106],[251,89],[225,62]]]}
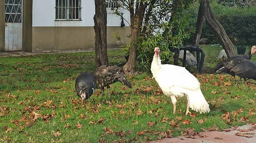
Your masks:
{"label": "whole two-tone building wall, white above and tan below", "polygon": [[[81,20],[57,21],[55,19],[55,1],[33,0],[32,11],[32,52],[50,52],[55,50],[86,50],[95,47],[94,0],[81,1]],[[121,10],[123,17],[130,21],[129,11]],[[124,27],[120,27],[121,19],[113,11],[107,9],[107,44],[108,48],[120,46],[112,36],[119,32],[121,40],[129,43],[131,29],[129,23],[124,21]]]}

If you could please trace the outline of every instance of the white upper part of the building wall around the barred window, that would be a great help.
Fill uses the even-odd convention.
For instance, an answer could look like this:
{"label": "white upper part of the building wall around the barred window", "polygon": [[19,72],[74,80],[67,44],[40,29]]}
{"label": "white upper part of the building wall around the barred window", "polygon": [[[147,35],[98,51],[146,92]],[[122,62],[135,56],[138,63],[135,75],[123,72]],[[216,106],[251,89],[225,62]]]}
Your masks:
{"label": "white upper part of the building wall around the barred window", "polygon": [[[33,0],[32,26],[94,26],[93,16],[95,14],[94,0],[81,0],[81,21],[55,21],[54,0]],[[122,10],[123,17],[130,21],[129,11]],[[107,10],[107,26],[120,26],[121,19]],[[129,26],[124,20],[125,26]]]}

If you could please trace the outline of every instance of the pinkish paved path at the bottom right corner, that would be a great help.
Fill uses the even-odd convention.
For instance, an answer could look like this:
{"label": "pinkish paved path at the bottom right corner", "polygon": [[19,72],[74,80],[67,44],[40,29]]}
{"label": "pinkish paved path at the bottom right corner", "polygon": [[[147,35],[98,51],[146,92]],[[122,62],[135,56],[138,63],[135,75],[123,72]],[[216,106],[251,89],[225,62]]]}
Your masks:
{"label": "pinkish paved path at the bottom right corner", "polygon": [[150,143],[256,143],[256,125],[248,124],[241,127],[232,127],[226,131],[200,132],[193,136],[179,136],[164,138]]}

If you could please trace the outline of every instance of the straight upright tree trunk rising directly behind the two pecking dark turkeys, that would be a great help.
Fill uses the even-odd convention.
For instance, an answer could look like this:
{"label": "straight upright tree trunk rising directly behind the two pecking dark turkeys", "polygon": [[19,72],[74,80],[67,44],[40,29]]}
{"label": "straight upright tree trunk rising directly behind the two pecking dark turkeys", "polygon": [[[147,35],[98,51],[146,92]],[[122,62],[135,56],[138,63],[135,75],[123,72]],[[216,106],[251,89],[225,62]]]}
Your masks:
{"label": "straight upright tree trunk rising directly behind the two pecking dark turkeys", "polygon": [[95,66],[109,64],[106,44],[106,4],[102,0],[94,0],[95,15],[94,31],[95,31]]}

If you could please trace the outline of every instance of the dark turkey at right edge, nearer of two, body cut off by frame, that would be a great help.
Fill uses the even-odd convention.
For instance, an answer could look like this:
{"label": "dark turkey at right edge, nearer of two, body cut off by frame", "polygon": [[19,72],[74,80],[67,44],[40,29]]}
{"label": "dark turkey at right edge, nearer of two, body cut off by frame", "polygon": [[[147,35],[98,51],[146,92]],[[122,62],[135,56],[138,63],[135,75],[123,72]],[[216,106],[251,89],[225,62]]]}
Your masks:
{"label": "dark turkey at right edge, nearer of two, body cut off by frame", "polygon": [[236,85],[242,78],[244,78],[245,85],[247,85],[247,79],[256,80],[256,63],[247,59],[230,59],[222,68],[216,72],[221,73],[227,71],[239,76],[239,80],[237,81]]}

